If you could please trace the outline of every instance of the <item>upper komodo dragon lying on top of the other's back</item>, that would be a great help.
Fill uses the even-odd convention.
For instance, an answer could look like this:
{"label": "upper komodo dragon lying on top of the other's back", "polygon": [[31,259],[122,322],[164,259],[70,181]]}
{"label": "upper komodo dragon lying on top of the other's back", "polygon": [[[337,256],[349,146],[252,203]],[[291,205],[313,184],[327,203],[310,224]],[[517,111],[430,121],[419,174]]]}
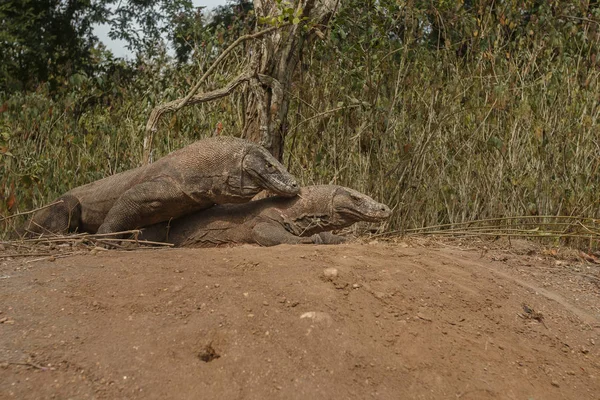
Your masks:
{"label": "upper komodo dragon lying on top of the other's back", "polygon": [[111,233],[243,203],[267,189],[295,196],[300,187],[267,150],[234,137],[199,140],[158,161],[76,187],[38,211],[35,233]]}

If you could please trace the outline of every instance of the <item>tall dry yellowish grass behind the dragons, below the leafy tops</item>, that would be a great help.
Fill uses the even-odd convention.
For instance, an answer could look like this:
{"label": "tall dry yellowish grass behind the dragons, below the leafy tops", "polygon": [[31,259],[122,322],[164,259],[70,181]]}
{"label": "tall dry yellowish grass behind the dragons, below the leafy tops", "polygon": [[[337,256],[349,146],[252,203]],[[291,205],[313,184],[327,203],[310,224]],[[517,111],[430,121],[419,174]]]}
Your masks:
{"label": "tall dry yellowish grass behind the dragons, below the leafy tops", "polygon": [[[337,23],[348,38],[304,54],[291,93],[285,163],[304,184],[368,193],[394,210],[383,229],[401,234],[436,226],[454,235],[550,235],[598,246],[597,221],[584,219],[600,218],[594,23],[581,23],[587,36],[563,32],[560,51],[540,34],[498,39],[467,55],[412,39],[362,45],[365,29],[343,13]],[[233,54],[203,90],[224,86],[243,59]],[[150,111],[181,97],[193,71],[149,64],[118,88],[118,99],[83,111],[77,105],[96,95],[90,80],[61,99],[43,91],[4,99],[2,213],[138,166]],[[163,121],[153,158],[212,135],[218,123],[222,134],[241,131],[242,96]],[[487,219],[495,222],[478,222]]]}

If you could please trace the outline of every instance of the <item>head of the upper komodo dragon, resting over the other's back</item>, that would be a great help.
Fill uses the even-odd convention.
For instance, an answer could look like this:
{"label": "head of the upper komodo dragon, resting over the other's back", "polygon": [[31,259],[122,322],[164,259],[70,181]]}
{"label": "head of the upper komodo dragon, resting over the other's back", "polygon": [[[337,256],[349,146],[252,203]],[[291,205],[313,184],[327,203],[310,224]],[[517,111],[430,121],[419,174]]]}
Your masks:
{"label": "head of the upper komodo dragon, resting over the other's back", "polygon": [[242,160],[244,189],[258,193],[266,189],[279,196],[291,197],[300,192],[296,179],[264,147],[252,144]]}

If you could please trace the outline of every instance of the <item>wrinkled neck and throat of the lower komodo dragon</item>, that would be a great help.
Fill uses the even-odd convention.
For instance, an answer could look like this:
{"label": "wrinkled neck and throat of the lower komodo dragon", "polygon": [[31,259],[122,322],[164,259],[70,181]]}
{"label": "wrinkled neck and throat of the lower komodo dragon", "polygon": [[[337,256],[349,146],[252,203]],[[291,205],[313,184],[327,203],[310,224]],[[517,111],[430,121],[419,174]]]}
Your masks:
{"label": "wrinkled neck and throat of the lower komodo dragon", "polygon": [[335,190],[314,187],[303,188],[297,199],[281,213],[286,230],[297,236],[342,229],[356,220],[335,212]]}

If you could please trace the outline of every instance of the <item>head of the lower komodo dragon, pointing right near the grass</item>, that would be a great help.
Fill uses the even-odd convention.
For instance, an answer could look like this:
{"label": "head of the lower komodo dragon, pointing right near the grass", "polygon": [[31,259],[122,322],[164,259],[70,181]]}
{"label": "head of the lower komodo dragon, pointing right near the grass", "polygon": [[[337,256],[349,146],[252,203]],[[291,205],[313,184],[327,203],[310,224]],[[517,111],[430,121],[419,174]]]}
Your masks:
{"label": "head of the lower komodo dragon, pointing right near the grass", "polygon": [[331,215],[334,220],[379,222],[388,219],[392,211],[356,190],[339,187],[331,200]]}

